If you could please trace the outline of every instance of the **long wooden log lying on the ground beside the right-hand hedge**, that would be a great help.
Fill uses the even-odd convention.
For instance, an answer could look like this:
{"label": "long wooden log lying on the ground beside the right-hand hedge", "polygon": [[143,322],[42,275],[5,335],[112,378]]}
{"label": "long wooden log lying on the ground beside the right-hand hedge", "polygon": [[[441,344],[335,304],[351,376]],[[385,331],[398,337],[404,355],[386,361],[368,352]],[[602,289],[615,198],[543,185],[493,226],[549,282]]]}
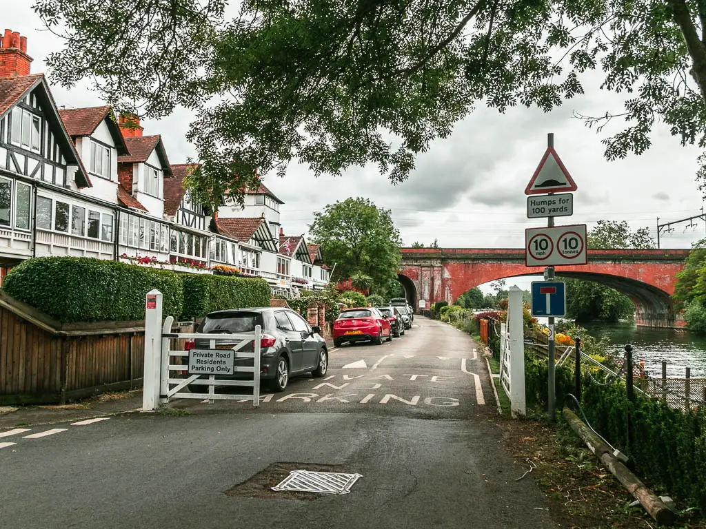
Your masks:
{"label": "long wooden log lying on the ground beside the right-hand hedge", "polygon": [[633,474],[628,467],[623,465],[608,445],[606,445],[592,430],[580,420],[578,416],[569,408],[563,409],[563,416],[571,429],[586,443],[591,451],[601,460],[608,470],[611,471],[623,487],[633,494],[635,499],[645,508],[645,511],[661,525],[672,525],[674,523],[674,512],[659,499],[657,494]]}

